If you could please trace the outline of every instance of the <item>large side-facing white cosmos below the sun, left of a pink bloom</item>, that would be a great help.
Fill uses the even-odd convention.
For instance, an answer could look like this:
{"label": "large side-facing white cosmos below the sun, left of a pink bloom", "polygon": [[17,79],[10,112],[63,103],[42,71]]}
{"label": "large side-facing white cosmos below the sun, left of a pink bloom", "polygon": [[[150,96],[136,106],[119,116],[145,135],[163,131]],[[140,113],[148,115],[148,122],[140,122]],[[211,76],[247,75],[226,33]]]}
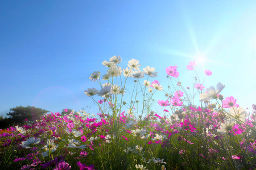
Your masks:
{"label": "large side-facing white cosmos below the sun, left of a pink bloom", "polygon": [[209,100],[212,98],[217,98],[217,94],[219,94],[223,88],[225,87],[225,85],[221,84],[220,82],[217,84],[217,89],[215,90],[215,88],[213,86],[210,86],[209,88],[207,88],[207,91],[204,94],[200,94],[199,98],[201,99],[200,101],[205,101],[205,100]]}

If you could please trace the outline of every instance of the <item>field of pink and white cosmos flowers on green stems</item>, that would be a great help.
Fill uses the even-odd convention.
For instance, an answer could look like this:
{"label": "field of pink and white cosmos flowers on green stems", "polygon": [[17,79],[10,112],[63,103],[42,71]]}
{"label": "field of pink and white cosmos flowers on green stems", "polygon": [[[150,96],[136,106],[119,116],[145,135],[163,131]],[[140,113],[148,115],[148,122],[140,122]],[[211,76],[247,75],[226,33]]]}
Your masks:
{"label": "field of pink and white cosmos flowers on green stems", "polygon": [[[256,105],[247,113],[233,96],[220,94],[224,84],[205,88],[198,76],[192,89],[183,87],[177,66],[166,68],[165,88],[150,81],[158,76],[154,67],[142,71],[131,59],[122,69],[121,61],[113,56],[102,62],[106,74],[89,77],[98,83],[98,90],[85,90],[97,116],[50,113],[2,129],[1,169],[256,169]],[[195,68],[195,61],[187,65]],[[166,98],[157,101],[163,110],[156,113],[153,96],[160,91]]]}

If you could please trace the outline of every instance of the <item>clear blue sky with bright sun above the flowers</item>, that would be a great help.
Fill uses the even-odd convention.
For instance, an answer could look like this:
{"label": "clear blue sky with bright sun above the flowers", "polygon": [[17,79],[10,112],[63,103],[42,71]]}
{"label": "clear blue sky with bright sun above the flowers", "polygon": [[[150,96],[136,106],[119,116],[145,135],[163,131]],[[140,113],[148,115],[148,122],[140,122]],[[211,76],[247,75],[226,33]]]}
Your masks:
{"label": "clear blue sky with bright sun above the flowers", "polygon": [[0,1],[0,113],[30,105],[50,112],[88,106],[96,114],[84,90],[100,88],[89,76],[105,74],[101,62],[112,56],[123,58],[123,68],[132,58],[141,70],[155,67],[163,87],[174,65],[192,87],[195,73],[186,66],[195,60],[202,78],[213,72],[205,88],[221,82],[221,94],[250,110],[255,11],[255,1]]}

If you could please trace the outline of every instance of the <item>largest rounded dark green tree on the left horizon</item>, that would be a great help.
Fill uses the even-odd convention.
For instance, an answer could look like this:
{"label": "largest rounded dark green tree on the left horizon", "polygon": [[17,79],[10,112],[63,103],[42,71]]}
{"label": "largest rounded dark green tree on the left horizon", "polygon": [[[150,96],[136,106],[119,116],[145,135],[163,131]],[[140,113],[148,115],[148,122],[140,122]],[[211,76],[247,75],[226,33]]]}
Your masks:
{"label": "largest rounded dark green tree on the left horizon", "polygon": [[23,124],[26,119],[28,122],[33,122],[49,112],[41,108],[30,106],[17,106],[16,108],[11,108],[10,110],[11,112],[7,113],[7,115],[10,116],[9,119],[14,121],[15,124]]}

